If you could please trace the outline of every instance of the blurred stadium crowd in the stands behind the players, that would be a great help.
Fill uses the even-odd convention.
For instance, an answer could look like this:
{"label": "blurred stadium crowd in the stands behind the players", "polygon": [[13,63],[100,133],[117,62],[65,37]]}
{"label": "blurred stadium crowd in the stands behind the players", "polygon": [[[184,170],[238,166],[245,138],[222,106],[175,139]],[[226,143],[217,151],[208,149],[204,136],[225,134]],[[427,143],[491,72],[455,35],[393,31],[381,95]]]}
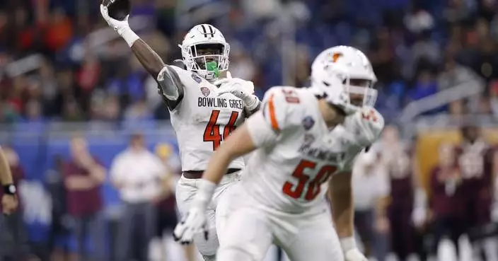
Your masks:
{"label": "blurred stadium crowd in the stands behind the players", "polygon": [[[349,44],[369,54],[382,112],[473,81],[485,87],[486,95],[463,102],[469,106],[453,103],[448,110],[498,110],[498,22],[492,0],[251,3],[137,0],[133,13],[143,18],[141,35],[169,62],[180,58],[176,45],[191,25],[216,24],[233,45],[232,74],[253,80],[260,95],[269,86],[306,85],[310,61],[319,50]],[[97,7],[87,1],[1,2],[4,122],[168,117],[154,81],[130,58],[125,43],[106,31],[88,36],[105,25]],[[290,18],[291,29],[284,18]],[[296,36],[290,49],[282,45],[289,31]],[[37,66],[5,70],[29,54],[42,54]],[[293,79],[282,76],[285,58],[294,64]]]}

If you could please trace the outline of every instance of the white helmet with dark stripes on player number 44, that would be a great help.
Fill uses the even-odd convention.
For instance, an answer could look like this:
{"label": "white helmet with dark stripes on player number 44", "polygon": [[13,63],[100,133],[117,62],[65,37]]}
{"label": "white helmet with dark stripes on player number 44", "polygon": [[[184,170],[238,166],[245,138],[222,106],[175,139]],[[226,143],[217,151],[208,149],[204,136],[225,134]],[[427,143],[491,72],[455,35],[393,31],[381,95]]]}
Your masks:
{"label": "white helmet with dark stripes on player number 44", "polygon": [[230,45],[213,25],[195,25],[178,46],[187,70],[207,80],[216,79],[221,71],[228,70]]}

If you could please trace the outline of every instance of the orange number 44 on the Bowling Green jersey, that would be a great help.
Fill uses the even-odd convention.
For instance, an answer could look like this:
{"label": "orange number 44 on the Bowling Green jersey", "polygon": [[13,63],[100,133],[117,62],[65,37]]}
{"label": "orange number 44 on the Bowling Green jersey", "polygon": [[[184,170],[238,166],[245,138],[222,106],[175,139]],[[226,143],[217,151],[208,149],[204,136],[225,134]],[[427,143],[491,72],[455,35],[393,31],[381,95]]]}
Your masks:
{"label": "orange number 44 on the Bowling Green jersey", "polygon": [[221,141],[228,138],[230,134],[236,129],[235,123],[238,118],[238,112],[232,112],[230,115],[230,120],[228,120],[228,124],[225,125],[223,130],[223,136],[221,136],[221,132],[219,131],[218,116],[219,110],[213,110],[211,112],[211,117],[209,117],[209,122],[207,122],[206,129],[204,129],[204,141],[213,143],[213,151],[218,149]]}

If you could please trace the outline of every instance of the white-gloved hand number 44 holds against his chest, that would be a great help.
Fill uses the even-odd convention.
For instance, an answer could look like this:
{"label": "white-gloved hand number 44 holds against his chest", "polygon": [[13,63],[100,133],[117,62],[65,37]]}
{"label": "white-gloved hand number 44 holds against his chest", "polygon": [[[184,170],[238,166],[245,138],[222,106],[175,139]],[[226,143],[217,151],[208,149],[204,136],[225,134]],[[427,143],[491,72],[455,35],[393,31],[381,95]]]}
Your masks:
{"label": "white-gloved hand number 44 holds against his chest", "polygon": [[230,71],[226,72],[225,79],[219,79],[213,84],[219,86],[218,95],[232,93],[243,100],[245,108],[248,110],[254,110],[260,103],[260,100],[254,95],[254,83],[240,78],[232,78]]}

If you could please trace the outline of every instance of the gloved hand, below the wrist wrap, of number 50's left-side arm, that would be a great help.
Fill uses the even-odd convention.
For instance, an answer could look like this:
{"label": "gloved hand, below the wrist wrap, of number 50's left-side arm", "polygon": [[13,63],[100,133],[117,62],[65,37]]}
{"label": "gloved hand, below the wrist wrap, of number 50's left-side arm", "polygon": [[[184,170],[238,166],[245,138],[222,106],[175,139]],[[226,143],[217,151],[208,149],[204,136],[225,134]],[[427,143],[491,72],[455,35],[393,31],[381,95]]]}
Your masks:
{"label": "gloved hand, below the wrist wrap, of number 50's left-side arm", "polygon": [[187,215],[176,225],[173,238],[183,244],[190,244],[197,233],[204,233],[208,238],[207,219],[205,209],[202,207],[191,207]]}

